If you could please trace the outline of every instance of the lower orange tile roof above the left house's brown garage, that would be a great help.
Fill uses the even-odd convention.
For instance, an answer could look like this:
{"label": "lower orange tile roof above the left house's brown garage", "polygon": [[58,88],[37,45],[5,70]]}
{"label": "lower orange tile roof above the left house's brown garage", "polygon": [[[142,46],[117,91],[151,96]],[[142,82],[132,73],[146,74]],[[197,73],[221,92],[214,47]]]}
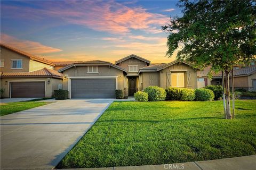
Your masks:
{"label": "lower orange tile roof above the left house's brown garage", "polygon": [[36,71],[33,71],[33,72],[3,72],[1,74],[1,77],[15,77],[15,76],[44,76],[44,77],[60,77],[62,78],[63,77],[63,74],[62,73],[59,73],[58,71],[56,70],[51,70],[51,69],[41,69],[41,70],[36,70]]}

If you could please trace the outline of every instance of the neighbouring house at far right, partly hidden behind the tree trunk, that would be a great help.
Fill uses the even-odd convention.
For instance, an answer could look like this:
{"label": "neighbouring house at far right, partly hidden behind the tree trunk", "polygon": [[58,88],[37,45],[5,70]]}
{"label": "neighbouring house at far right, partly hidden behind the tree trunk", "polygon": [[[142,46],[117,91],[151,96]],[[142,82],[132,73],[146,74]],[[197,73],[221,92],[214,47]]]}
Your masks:
{"label": "neighbouring house at far right, partly hidden behind the tree trunk", "polygon": [[[231,77],[231,73],[230,73]],[[213,74],[212,85],[222,85],[221,73]],[[234,69],[234,84],[235,89],[246,89],[249,91],[256,91],[256,66],[238,67]],[[230,78],[231,87],[231,78]]]}

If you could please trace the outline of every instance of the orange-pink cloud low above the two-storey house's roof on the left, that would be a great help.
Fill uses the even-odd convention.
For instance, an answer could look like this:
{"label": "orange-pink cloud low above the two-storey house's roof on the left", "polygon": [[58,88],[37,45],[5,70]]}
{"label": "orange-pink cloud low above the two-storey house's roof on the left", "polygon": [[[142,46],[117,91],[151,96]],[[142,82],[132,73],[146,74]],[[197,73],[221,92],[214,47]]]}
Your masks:
{"label": "orange-pink cloud low above the two-storey house's roof on the left", "polygon": [[21,40],[1,33],[1,43],[24,50],[30,54],[40,55],[45,53],[61,52],[61,49],[45,46],[41,43],[29,40]]}

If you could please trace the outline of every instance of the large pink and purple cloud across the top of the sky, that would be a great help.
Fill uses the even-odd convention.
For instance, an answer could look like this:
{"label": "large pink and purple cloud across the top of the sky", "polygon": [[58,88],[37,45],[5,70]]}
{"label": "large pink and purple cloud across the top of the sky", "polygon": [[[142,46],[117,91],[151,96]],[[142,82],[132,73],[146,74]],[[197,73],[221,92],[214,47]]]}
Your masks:
{"label": "large pink and purple cloud across the top of the sky", "polygon": [[26,19],[33,17],[35,20],[57,18],[69,24],[84,25],[113,34],[126,34],[132,29],[159,33],[162,32],[161,25],[169,22],[166,15],[150,13],[142,7],[127,7],[114,1],[47,1],[42,3],[41,8],[22,7],[17,8],[17,11],[21,15],[9,12],[10,15],[5,16]]}

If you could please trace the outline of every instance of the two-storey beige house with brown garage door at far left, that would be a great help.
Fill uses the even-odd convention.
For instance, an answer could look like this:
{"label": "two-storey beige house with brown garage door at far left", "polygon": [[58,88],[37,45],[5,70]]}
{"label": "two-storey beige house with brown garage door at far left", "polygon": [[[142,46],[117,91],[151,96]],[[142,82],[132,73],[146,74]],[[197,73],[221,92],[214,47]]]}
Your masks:
{"label": "two-storey beige house with brown garage door at far left", "polygon": [[1,44],[2,97],[51,97],[63,79],[54,66],[45,58]]}

